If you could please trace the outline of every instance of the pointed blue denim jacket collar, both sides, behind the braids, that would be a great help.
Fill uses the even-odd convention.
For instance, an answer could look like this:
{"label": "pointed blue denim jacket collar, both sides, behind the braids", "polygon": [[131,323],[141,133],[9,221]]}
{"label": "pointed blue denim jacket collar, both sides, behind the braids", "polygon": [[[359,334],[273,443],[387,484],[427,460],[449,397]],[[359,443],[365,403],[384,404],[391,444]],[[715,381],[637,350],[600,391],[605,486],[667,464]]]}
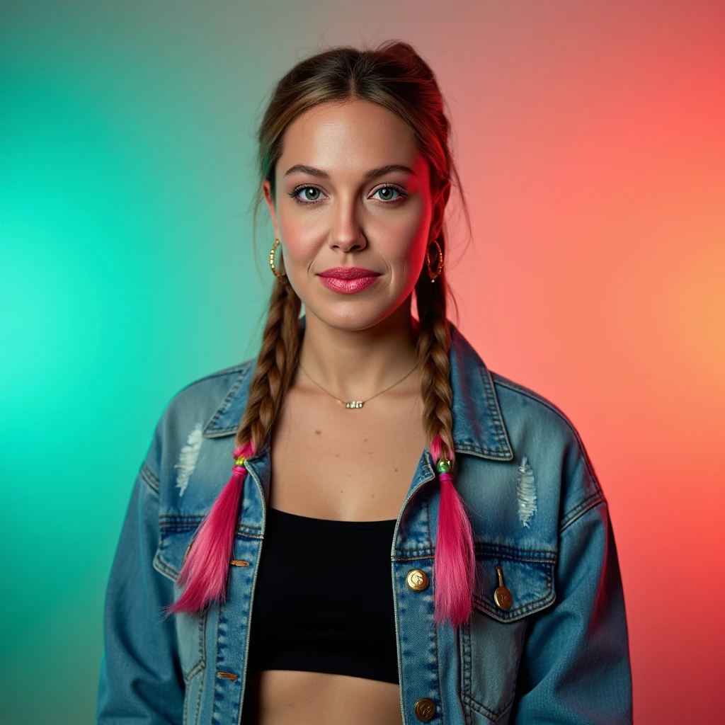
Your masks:
{"label": "pointed blue denim jacket collar, both sides, behind the braids", "polygon": [[[457,327],[449,324],[455,450],[490,460],[513,460],[491,372]],[[304,315],[299,318],[299,329],[304,334]],[[239,376],[202,429],[204,438],[236,434],[247,405],[255,362],[248,360],[241,366]]]}

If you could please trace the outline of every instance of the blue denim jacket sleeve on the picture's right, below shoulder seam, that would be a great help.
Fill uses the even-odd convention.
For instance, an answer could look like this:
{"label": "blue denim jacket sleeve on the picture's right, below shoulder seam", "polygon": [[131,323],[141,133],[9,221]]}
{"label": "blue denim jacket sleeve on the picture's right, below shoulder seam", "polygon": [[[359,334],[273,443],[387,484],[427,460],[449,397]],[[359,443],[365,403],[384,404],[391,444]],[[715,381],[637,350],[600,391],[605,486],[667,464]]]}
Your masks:
{"label": "blue denim jacket sleeve on the picture's right, below shoulder seam", "polygon": [[631,724],[624,592],[603,496],[563,517],[556,601],[529,625],[512,722]]}

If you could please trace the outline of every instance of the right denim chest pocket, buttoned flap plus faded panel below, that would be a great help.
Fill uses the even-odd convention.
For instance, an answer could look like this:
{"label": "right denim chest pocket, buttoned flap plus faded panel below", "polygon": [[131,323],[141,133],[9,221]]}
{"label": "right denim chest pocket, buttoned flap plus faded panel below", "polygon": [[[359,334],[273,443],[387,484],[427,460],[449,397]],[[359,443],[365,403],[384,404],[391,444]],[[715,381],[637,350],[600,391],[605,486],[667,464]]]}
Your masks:
{"label": "right denim chest pocket, buttoned flap plus faded panel below", "polygon": [[473,610],[460,627],[467,723],[508,722],[528,618],[555,599],[554,565],[553,552],[476,544]]}

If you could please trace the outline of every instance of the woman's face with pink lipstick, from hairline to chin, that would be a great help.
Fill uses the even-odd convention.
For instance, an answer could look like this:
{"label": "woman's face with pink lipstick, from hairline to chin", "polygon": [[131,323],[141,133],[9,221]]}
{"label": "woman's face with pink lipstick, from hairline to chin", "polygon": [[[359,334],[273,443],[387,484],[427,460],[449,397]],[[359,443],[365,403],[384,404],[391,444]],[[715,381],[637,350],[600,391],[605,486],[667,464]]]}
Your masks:
{"label": "woman's face with pink lipstick, from hairline to chin", "polygon": [[[320,104],[287,128],[275,173],[276,199],[268,181],[263,191],[276,265],[308,312],[363,330],[409,299],[444,204],[405,122],[368,101]],[[368,272],[346,280],[334,268]]]}

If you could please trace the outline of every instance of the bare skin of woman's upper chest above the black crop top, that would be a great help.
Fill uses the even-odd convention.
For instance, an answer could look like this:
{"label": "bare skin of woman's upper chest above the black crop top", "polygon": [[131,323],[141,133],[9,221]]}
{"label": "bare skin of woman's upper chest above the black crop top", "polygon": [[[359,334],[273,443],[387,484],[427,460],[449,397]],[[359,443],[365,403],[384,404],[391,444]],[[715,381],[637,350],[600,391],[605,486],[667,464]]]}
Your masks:
{"label": "bare skin of woman's upper chest above the black crop top", "polygon": [[397,518],[425,447],[418,395],[347,409],[292,389],[273,430],[270,505],[341,521]]}

